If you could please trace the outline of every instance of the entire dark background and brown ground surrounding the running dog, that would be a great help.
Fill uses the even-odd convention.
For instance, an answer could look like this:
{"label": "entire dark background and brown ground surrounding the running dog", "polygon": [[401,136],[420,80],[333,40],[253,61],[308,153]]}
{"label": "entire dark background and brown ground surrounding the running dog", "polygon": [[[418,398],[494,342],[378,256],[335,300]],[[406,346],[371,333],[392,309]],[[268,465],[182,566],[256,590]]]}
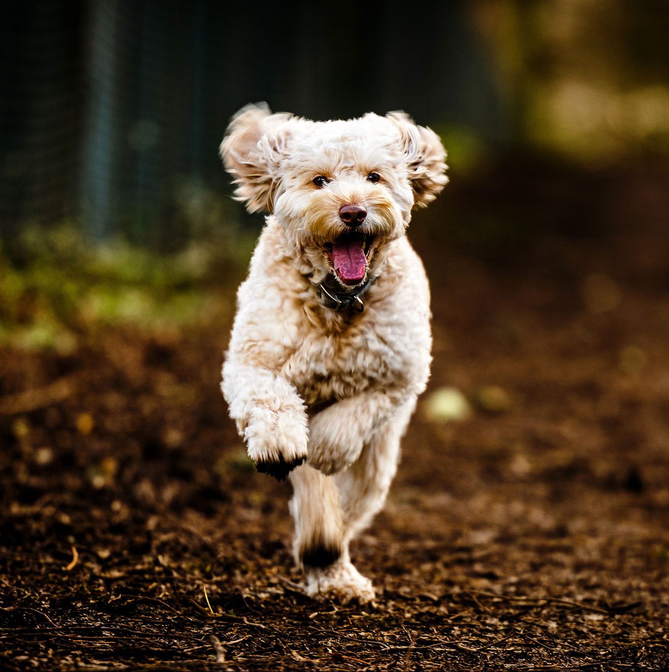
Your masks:
{"label": "entire dark background and brown ground surrounding the running dog", "polygon": [[[3,667],[669,664],[669,5],[0,19]],[[406,110],[449,151],[409,229],[433,376],[353,549],[373,610],[300,593],[289,486],[218,390],[263,224],[218,144],[263,100]]]}

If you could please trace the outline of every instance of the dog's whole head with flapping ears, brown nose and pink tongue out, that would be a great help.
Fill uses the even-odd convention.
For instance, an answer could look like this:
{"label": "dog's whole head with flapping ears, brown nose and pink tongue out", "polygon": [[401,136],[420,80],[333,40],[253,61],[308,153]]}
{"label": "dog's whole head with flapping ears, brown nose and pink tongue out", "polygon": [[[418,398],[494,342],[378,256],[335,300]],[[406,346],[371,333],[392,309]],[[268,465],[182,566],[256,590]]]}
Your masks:
{"label": "dog's whole head with flapping ears, brown nose and pink tongue out", "polygon": [[412,209],[447,182],[438,136],[402,112],[312,122],[244,108],[221,155],[236,198],[277,218],[314,280],[332,273],[347,288],[375,274]]}

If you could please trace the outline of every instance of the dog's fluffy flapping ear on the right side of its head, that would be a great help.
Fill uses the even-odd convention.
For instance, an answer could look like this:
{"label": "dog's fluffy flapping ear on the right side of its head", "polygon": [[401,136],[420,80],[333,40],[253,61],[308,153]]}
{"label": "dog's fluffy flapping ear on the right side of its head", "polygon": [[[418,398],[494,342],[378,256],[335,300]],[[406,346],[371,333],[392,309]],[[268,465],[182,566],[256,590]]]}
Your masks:
{"label": "dog's fluffy flapping ear on the right side of its head", "polygon": [[446,150],[431,128],[417,126],[405,112],[389,112],[386,116],[400,131],[414,190],[414,207],[425,208],[448,182]]}

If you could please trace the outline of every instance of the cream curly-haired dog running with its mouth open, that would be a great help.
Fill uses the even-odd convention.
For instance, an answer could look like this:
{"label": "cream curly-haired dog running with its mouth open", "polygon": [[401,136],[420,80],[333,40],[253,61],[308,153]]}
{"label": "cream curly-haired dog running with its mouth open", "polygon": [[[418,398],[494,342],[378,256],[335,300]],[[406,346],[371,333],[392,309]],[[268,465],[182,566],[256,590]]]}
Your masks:
{"label": "cream curly-haired dog running with its mouth open", "polygon": [[446,153],[402,112],[312,122],[261,105],[221,155],[236,198],[269,212],[223,366],[230,416],[258,470],[289,475],[307,593],[371,601],[349,543],[429,376],[429,286],[405,230],[447,182]]}

